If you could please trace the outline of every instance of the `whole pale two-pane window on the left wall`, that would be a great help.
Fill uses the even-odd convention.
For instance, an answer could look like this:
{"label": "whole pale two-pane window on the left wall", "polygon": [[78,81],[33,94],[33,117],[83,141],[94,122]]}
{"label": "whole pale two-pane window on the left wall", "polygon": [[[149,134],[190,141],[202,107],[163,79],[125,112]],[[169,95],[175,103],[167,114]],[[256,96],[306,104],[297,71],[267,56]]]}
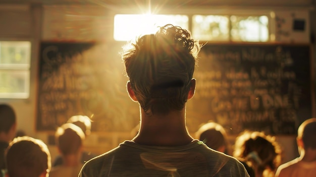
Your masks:
{"label": "whole pale two-pane window on the left wall", "polygon": [[28,98],[30,41],[0,41],[0,98]]}

